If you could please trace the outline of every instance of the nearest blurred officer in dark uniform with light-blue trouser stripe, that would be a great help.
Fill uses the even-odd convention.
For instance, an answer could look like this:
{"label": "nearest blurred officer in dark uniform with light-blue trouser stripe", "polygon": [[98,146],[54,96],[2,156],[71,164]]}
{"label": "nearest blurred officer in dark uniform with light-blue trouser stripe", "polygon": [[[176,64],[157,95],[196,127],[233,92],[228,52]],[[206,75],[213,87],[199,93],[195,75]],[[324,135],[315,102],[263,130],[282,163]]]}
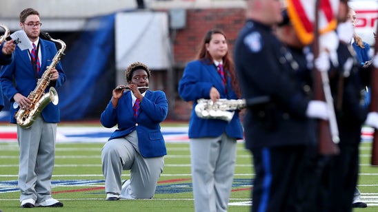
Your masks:
{"label": "nearest blurred officer in dark uniform with light-blue trouser stripe", "polygon": [[255,169],[252,211],[316,211],[314,185],[304,178],[314,179],[317,165],[313,118],[327,120],[328,109],[324,101],[312,100],[304,48],[290,24],[276,31],[285,45],[273,33],[284,21],[281,8],[281,1],[248,0],[246,24],[235,43],[247,103],[246,148]]}

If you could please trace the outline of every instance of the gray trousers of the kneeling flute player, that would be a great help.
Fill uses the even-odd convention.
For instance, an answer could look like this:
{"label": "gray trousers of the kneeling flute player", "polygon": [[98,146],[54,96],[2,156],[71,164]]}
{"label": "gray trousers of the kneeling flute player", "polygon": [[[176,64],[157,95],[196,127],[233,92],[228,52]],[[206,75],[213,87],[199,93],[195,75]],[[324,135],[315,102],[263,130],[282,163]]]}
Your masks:
{"label": "gray trousers of the kneeling flute player", "polygon": [[[164,167],[164,157],[143,158],[138,148],[137,131],[124,138],[109,140],[101,151],[106,193],[124,199],[150,199]],[[122,188],[121,174],[130,170],[130,181]],[[122,192],[121,192],[122,190]]]}

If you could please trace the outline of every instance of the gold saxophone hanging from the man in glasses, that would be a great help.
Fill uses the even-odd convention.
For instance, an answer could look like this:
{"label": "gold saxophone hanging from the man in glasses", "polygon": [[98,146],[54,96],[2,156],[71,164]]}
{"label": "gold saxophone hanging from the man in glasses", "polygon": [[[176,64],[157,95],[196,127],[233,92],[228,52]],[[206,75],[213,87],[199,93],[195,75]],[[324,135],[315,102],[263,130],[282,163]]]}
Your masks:
{"label": "gold saxophone hanging from the man in glasses", "polygon": [[50,84],[50,78],[52,76],[52,70],[59,63],[61,56],[66,50],[66,43],[59,39],[52,39],[50,34],[47,32],[41,32],[42,35],[46,36],[50,41],[59,43],[61,48],[55,54],[54,58],[51,61],[51,64],[47,67],[46,71],[43,72],[41,78],[37,82],[37,87],[30,92],[28,98],[32,101],[30,107],[20,108],[19,111],[15,114],[17,124],[20,127],[28,128],[34,123],[35,118],[41,113],[43,108],[45,108],[50,102],[54,105],[57,105],[59,102],[57,90],[54,87],[50,87],[49,91],[45,94],[45,90]]}

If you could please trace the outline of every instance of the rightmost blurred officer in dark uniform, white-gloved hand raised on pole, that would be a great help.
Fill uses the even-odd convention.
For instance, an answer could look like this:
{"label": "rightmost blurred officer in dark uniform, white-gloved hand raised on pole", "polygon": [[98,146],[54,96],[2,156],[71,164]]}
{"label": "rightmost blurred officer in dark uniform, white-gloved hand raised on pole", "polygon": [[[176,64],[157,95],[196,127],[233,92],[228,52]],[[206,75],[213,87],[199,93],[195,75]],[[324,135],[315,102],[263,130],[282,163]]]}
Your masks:
{"label": "rightmost blurred officer in dark uniform, white-gloved hand raised on pole", "polygon": [[366,207],[364,202],[352,204],[359,173],[359,143],[361,127],[366,124],[378,127],[377,112],[369,112],[361,89],[370,83],[370,72],[361,72],[350,47],[353,36],[352,23],[348,21],[348,0],[341,0],[337,14],[337,62],[332,62],[328,72],[335,114],[339,127],[340,152],[332,156],[324,167],[319,194],[320,211],[352,211],[352,207]]}

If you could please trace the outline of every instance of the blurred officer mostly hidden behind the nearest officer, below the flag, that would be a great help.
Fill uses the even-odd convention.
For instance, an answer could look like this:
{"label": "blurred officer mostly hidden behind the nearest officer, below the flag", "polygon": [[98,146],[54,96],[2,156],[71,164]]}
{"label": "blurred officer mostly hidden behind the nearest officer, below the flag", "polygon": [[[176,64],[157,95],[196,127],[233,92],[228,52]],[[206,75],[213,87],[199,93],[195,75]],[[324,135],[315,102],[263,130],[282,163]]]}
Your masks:
{"label": "blurred officer mostly hidden behind the nearest officer, below the flag", "polygon": [[[298,89],[302,89],[303,93],[310,98],[312,94],[312,52],[309,46],[305,46],[299,40],[297,32],[292,25],[292,21],[288,17],[286,9],[282,11],[283,21],[275,28],[277,39],[283,45],[283,52],[286,58],[286,66],[291,70],[291,77],[296,78],[299,85]],[[285,48],[285,50],[284,50]],[[308,131],[315,134],[317,125],[315,120],[308,120],[308,126],[314,128],[314,131]],[[299,154],[297,162],[297,179],[295,180],[295,192],[292,192],[294,200],[296,200],[297,209],[303,211],[316,211],[316,194],[317,194],[317,142],[310,142],[304,146],[304,153]],[[293,211],[295,211],[293,209]]]}

